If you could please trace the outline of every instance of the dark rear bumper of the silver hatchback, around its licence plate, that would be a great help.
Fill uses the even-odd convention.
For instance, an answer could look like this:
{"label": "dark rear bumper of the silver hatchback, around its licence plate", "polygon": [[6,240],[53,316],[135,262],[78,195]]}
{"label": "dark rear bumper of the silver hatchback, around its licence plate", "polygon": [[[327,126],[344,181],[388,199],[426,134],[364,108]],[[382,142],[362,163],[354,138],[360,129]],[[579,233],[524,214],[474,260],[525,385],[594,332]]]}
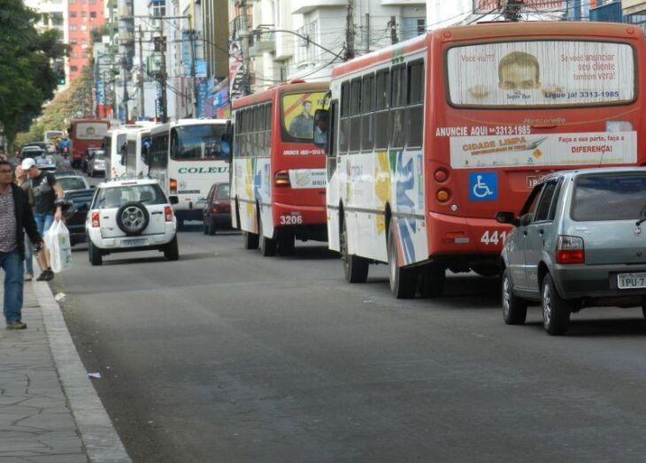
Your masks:
{"label": "dark rear bumper of the silver hatchback, around its licence plate", "polygon": [[634,265],[557,265],[550,269],[558,293],[566,300],[588,300],[585,305],[641,305],[646,288],[619,289],[619,273],[646,272]]}

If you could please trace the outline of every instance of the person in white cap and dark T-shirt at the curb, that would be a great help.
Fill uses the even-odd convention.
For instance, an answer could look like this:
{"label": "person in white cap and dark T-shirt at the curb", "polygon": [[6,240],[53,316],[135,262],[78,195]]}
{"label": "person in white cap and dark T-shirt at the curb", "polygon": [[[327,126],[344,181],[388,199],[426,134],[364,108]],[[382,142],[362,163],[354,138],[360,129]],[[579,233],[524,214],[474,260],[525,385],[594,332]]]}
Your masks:
{"label": "person in white cap and dark T-shirt at the curb", "polygon": [[[27,157],[22,164],[22,170],[27,173],[30,179],[31,189],[34,192],[34,219],[38,232],[45,236],[50,230],[54,221],[59,222],[63,218],[61,201],[65,193],[63,188],[58,184],[53,174],[39,171],[36,168],[36,162],[31,157]],[[50,267],[50,254],[45,249],[45,269],[42,270],[41,276],[36,278],[37,281],[50,281],[54,277],[54,272]]]}

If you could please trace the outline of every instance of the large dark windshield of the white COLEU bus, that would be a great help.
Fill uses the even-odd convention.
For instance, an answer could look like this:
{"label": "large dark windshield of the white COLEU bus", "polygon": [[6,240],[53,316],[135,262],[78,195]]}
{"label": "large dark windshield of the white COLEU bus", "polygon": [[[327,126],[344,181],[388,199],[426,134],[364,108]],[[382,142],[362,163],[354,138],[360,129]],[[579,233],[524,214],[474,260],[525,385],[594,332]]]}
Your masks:
{"label": "large dark windshield of the white COLEU bus", "polygon": [[171,133],[171,159],[187,161],[210,159],[226,161],[229,156],[225,125],[185,125]]}

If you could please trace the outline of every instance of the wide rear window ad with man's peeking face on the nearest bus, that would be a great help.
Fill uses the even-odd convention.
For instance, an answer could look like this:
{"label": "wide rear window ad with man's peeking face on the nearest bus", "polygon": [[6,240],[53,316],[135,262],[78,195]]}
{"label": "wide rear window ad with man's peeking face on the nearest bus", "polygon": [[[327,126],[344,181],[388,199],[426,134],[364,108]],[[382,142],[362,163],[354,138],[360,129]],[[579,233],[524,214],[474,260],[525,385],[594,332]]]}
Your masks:
{"label": "wide rear window ad with man's peeking face on the nearest bus", "polygon": [[634,101],[633,48],[617,42],[479,43],[446,54],[450,102],[473,108],[599,106]]}

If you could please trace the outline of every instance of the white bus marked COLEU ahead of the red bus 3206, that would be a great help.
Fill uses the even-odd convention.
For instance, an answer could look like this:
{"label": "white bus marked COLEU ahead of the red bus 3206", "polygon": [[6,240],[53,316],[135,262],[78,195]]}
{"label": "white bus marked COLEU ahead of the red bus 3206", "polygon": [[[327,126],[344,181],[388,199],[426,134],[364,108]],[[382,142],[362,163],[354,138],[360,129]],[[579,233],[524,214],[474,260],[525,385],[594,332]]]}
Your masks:
{"label": "white bus marked COLEU ahead of the red bus 3206", "polygon": [[229,180],[228,119],[181,119],[150,129],[150,176],[169,197],[178,224],[202,220],[211,185]]}

